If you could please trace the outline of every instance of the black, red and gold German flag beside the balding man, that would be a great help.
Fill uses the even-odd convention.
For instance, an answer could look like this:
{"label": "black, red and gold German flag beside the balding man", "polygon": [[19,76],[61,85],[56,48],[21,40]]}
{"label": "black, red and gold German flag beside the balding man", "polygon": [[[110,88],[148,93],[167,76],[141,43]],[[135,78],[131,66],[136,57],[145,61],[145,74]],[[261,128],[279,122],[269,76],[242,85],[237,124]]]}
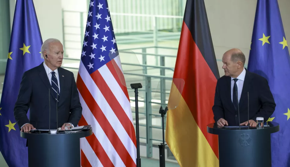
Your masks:
{"label": "black, red and gold German flag beside the balding man", "polygon": [[169,99],[181,98],[175,109],[169,100],[165,135],[181,167],[219,166],[218,136],[207,133],[217,79],[204,0],[187,0]]}

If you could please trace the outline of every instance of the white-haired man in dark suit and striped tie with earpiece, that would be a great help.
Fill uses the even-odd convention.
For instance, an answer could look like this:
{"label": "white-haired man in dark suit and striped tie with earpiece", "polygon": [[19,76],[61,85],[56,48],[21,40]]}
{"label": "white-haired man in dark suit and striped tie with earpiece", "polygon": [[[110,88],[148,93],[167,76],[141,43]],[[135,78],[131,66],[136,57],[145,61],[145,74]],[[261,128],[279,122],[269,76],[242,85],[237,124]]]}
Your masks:
{"label": "white-haired man in dark suit and striped tie with earpiece", "polygon": [[24,132],[48,129],[50,108],[51,129],[61,127],[64,130],[65,123],[71,123],[75,127],[81,118],[82,106],[74,74],[60,67],[63,59],[61,42],[57,39],[43,42],[41,56],[45,61],[23,74],[14,108],[16,122]]}

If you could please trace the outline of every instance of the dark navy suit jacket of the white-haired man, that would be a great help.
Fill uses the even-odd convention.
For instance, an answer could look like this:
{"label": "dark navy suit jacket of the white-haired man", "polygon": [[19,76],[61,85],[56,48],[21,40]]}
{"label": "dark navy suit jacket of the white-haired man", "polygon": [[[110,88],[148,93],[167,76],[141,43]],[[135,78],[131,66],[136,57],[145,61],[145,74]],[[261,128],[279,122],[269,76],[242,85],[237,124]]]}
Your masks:
{"label": "dark navy suit jacket of the white-haired man", "polygon": [[[51,110],[50,128],[57,129],[66,122],[72,123],[74,127],[77,126],[82,115],[82,106],[74,74],[61,67],[58,68],[58,72],[60,85],[58,104],[43,63],[23,74],[14,108],[14,117],[19,128],[25,123],[30,123],[36,129],[48,129],[49,98]],[[30,112],[29,119],[26,115],[28,109]],[[56,113],[58,114],[58,127]]]}

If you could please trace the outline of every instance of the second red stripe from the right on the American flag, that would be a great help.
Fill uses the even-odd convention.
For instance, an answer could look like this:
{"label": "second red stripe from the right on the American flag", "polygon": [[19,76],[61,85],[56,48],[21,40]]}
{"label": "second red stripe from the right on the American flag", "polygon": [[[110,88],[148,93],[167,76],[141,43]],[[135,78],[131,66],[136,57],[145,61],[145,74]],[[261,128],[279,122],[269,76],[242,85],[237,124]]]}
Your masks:
{"label": "second red stripe from the right on the American flag", "polygon": [[[134,126],[129,119],[129,117],[126,115],[126,112],[120,105],[119,101],[114,96],[113,92],[107,85],[106,81],[104,80],[103,76],[100,74],[100,72],[97,70],[93,73],[91,73],[91,78],[94,80],[97,87],[100,89],[101,93],[107,100],[108,104],[114,111],[115,115],[119,119],[120,123],[123,125],[123,128],[131,138],[132,142],[135,144],[136,147],[136,137],[135,137],[135,129]],[[129,103],[128,103],[129,104]]]}

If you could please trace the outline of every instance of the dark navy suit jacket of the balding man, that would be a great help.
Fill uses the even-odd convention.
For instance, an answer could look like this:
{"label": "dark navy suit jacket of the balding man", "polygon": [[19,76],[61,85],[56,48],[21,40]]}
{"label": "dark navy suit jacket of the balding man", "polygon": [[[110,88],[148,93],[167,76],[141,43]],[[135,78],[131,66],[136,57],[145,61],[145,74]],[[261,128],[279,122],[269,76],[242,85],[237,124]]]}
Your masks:
{"label": "dark navy suit jacket of the balding man", "polygon": [[[240,123],[248,120],[248,92],[249,119],[256,121],[257,117],[263,117],[264,122],[267,121],[276,107],[268,81],[264,77],[246,70],[239,101]],[[224,118],[228,121],[228,125],[239,125],[238,111],[235,110],[231,101],[230,76],[222,76],[218,79],[212,110],[215,122]]]}

